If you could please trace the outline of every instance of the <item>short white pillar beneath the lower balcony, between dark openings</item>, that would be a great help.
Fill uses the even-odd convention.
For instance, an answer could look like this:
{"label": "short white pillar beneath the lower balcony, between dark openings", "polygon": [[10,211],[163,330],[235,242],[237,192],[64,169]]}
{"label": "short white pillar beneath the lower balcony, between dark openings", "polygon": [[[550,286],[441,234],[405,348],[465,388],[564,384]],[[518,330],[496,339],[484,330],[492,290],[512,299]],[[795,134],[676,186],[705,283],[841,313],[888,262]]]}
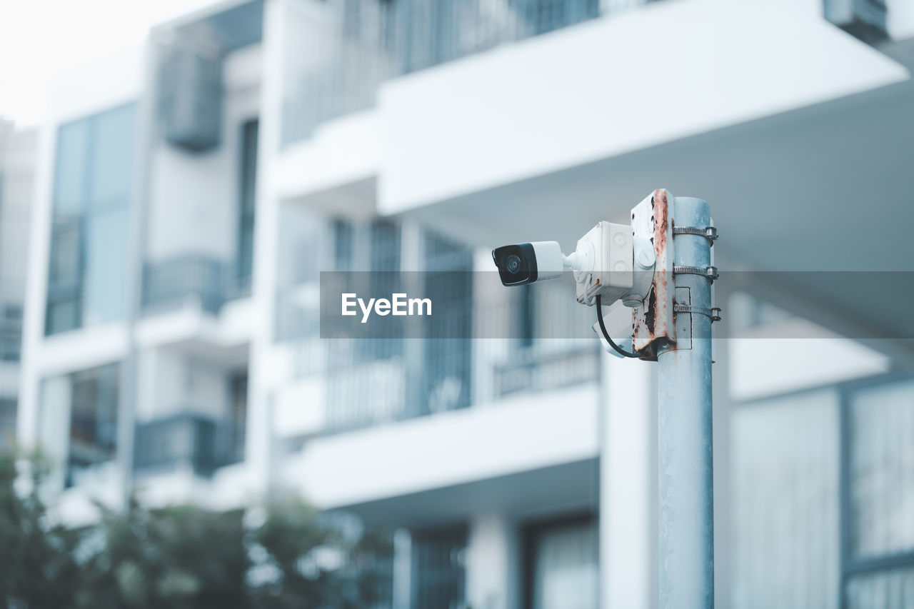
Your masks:
{"label": "short white pillar beneath the lower balcony, between dark openings", "polygon": [[520,552],[515,523],[504,514],[470,521],[466,551],[466,600],[473,609],[516,609]]}

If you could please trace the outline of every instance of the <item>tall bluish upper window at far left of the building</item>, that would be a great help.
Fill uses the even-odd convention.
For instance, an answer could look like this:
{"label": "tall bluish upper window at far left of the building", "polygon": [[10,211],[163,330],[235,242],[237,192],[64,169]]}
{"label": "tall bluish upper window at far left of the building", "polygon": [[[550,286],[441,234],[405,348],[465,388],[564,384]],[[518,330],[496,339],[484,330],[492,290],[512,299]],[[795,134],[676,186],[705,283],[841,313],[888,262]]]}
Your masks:
{"label": "tall bluish upper window at far left of the building", "polygon": [[130,104],[58,130],[47,335],[123,316],[133,122]]}

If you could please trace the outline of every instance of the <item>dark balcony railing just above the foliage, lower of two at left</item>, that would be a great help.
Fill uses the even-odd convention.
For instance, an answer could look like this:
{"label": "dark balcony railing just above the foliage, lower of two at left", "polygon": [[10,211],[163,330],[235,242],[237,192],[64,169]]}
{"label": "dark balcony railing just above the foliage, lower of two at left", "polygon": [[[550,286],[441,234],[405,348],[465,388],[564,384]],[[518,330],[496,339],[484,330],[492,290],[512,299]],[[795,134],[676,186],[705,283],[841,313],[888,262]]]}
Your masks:
{"label": "dark balcony railing just above the foliage, lower of two at left", "polygon": [[191,412],[137,425],[133,469],[137,475],[190,470],[208,476],[234,463],[239,452],[231,445],[228,422]]}

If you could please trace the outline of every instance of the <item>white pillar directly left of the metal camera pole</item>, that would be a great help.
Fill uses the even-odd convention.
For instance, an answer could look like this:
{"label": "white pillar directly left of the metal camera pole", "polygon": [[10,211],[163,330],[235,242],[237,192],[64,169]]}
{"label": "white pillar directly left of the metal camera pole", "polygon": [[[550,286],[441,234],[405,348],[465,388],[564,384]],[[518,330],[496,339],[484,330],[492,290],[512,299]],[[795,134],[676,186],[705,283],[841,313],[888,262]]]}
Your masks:
{"label": "white pillar directly left of the metal camera pole", "polygon": [[602,357],[600,607],[656,606],[656,364]]}

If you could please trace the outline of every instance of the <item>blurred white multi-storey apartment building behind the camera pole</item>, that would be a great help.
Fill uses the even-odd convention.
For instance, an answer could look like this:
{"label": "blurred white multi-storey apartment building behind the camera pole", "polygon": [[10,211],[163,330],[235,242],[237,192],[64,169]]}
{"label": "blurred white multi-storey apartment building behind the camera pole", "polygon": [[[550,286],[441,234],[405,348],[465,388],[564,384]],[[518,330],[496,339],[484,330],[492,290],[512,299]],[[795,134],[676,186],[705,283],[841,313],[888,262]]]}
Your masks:
{"label": "blurred white multi-storey apartment building behind the camera pole", "polygon": [[866,273],[910,270],[912,35],[903,2],[821,0],[233,0],[155,27],[53,86],[19,440],[73,521],[131,488],[291,489],[399,529],[393,607],[654,606],[654,368],[544,338],[590,310],[548,284],[486,308],[469,273],[455,334],[325,340],[318,307],[322,271],[432,289],[669,187],[711,201],[730,271],[717,597],[914,602],[914,335],[906,283]]}

